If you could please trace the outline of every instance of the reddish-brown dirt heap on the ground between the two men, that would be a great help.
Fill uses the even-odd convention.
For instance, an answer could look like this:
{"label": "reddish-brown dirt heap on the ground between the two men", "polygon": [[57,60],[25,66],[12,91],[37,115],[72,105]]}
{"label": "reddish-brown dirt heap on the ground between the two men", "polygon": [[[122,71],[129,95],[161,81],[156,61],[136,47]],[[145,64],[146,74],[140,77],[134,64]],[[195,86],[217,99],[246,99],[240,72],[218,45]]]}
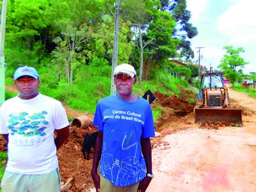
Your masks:
{"label": "reddish-brown dirt heap on the ground between the two men", "polygon": [[[58,150],[57,155],[60,163],[60,174],[63,185],[68,191],[88,191],[93,187],[91,177],[93,149],[90,159],[83,158],[82,143],[84,134],[97,131],[96,127],[89,125],[86,129],[73,126],[70,128],[70,138],[63,147]],[[68,184],[67,184],[68,183]],[[65,191],[65,190],[63,190]]]}

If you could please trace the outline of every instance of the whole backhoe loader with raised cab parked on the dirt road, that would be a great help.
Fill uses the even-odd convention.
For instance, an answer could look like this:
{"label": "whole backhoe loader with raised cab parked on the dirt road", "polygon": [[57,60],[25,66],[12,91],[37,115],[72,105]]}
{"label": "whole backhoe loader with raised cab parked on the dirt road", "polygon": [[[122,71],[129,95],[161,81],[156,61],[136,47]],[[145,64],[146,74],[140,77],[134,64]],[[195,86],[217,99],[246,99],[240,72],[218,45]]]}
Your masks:
{"label": "whole backhoe loader with raised cab parked on the dirt road", "polygon": [[242,125],[242,110],[231,108],[228,89],[221,73],[211,71],[201,77],[200,91],[196,95],[195,122],[227,122]]}

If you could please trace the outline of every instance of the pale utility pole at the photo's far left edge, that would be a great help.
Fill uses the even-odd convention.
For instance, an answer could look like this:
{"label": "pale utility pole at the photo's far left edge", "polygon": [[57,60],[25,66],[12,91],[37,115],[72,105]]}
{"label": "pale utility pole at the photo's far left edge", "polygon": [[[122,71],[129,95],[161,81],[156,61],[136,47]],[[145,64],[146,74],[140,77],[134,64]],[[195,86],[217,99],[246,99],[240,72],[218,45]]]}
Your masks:
{"label": "pale utility pole at the photo's far left edge", "polygon": [[5,37],[5,24],[6,24],[6,11],[7,11],[7,0],[2,1],[2,12],[1,12],[1,31],[0,31],[0,106],[5,100],[5,83],[4,83],[4,37]]}

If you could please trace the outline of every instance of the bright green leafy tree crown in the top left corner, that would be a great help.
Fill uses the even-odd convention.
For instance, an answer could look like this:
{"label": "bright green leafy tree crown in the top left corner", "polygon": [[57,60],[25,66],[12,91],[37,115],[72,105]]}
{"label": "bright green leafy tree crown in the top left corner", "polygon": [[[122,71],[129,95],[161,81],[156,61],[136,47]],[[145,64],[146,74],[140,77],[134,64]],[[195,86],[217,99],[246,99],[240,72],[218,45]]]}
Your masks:
{"label": "bright green leafy tree crown in the top left corner", "polygon": [[49,20],[45,18],[45,10],[49,8],[47,0],[28,0],[11,1],[8,10],[8,22],[6,31],[9,42],[17,40],[32,49],[35,44],[36,36],[40,36],[42,29],[47,27]]}

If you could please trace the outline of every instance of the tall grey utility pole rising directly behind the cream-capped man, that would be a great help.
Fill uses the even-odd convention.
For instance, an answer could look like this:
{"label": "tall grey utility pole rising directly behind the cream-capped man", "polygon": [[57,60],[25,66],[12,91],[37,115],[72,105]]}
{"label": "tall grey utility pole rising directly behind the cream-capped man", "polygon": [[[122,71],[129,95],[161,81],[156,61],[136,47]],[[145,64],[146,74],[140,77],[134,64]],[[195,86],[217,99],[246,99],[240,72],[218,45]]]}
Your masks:
{"label": "tall grey utility pole rising directly behind the cream-capped man", "polygon": [[114,33],[114,47],[113,47],[113,59],[112,59],[112,73],[111,73],[111,95],[116,93],[116,86],[114,83],[114,70],[118,60],[118,31],[119,31],[119,6],[120,0],[116,0],[116,13],[115,13],[115,33]]}

